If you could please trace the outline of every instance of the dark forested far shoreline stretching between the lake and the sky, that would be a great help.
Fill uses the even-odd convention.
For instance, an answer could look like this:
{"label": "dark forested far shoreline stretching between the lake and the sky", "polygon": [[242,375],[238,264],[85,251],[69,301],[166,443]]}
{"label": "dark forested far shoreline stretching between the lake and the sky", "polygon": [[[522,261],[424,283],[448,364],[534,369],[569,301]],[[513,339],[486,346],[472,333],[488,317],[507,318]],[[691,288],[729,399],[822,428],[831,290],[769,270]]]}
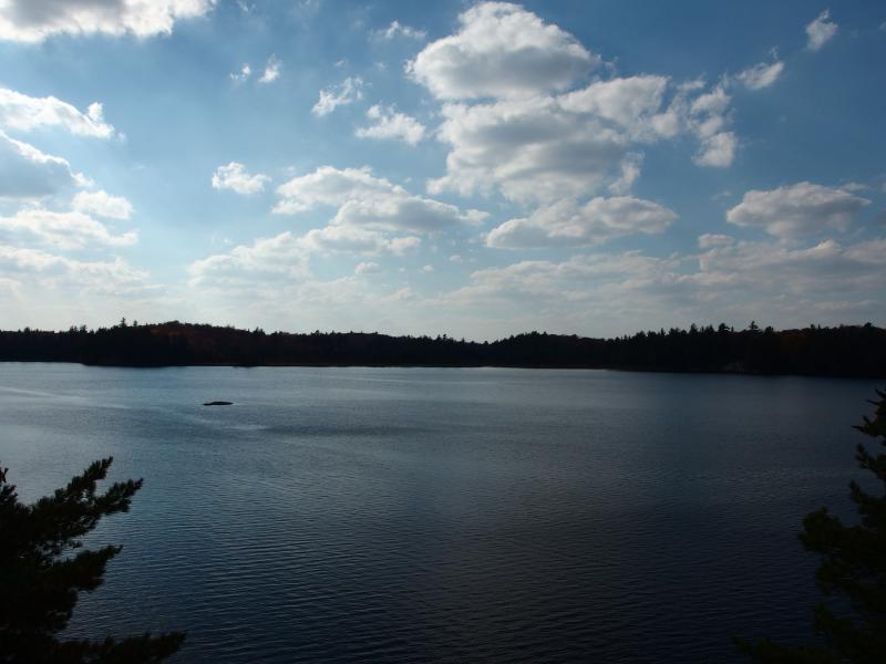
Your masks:
{"label": "dark forested far shoreline stretching between the lake and the sky", "polygon": [[867,323],[734,331],[724,324],[588,339],[530,332],[494,342],[377,332],[266,333],[177,321],[0,332],[0,361],[117,366],[523,366],[886,376],[886,330]]}

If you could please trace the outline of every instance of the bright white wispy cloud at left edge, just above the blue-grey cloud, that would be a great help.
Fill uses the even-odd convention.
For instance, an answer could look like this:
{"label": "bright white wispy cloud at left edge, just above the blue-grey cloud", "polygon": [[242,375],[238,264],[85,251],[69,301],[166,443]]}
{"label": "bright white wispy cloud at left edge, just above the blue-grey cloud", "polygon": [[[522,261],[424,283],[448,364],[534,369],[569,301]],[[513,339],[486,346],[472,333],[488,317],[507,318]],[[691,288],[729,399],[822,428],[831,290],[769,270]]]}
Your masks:
{"label": "bright white wispy cloud at left edge, just above the blue-grey cloud", "polygon": [[63,127],[79,136],[109,138],[114,135],[114,127],[104,122],[102,105],[97,102],[81,113],[54,96],[32,97],[0,89],[0,127],[28,132],[52,126]]}

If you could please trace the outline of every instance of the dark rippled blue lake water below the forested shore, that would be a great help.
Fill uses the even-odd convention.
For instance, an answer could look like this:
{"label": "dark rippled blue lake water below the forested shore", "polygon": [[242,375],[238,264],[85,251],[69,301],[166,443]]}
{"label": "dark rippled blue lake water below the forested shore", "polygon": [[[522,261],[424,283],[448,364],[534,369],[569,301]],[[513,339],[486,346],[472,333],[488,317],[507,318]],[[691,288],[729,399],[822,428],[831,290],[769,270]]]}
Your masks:
{"label": "dark rippled blue lake water below the forested shore", "polygon": [[[178,662],[731,662],[805,640],[875,383],[498,369],[0,364],[22,498],[144,477],[72,633]],[[207,408],[205,401],[228,400]]]}

